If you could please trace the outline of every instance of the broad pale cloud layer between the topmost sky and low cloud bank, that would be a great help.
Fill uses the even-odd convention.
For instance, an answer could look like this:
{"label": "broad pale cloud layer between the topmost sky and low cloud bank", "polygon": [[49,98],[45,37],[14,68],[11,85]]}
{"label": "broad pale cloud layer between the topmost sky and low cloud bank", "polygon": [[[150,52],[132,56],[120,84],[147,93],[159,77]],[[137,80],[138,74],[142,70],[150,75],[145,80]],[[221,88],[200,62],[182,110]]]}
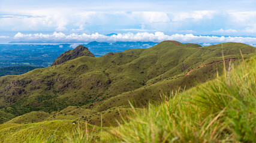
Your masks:
{"label": "broad pale cloud layer between the topmost sky and low cloud bank", "polygon": [[[62,8],[41,8],[20,10],[19,14],[12,13],[14,14],[0,15],[0,31],[79,33],[163,31],[197,35],[210,35],[212,34],[210,32],[213,32],[256,36],[256,11],[229,12],[200,9],[166,12],[86,11],[74,8],[65,8],[64,11]],[[220,29],[221,27],[228,29]]]}

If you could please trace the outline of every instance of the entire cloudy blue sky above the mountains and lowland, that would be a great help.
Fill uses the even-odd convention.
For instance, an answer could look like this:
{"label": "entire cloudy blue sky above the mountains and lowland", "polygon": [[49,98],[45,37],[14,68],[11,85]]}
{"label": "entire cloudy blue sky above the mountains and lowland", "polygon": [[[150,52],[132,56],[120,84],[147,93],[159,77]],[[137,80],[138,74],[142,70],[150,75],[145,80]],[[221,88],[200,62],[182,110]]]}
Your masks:
{"label": "entire cloudy blue sky above the mountains and lowland", "polygon": [[255,45],[256,1],[0,0],[0,43],[164,40]]}

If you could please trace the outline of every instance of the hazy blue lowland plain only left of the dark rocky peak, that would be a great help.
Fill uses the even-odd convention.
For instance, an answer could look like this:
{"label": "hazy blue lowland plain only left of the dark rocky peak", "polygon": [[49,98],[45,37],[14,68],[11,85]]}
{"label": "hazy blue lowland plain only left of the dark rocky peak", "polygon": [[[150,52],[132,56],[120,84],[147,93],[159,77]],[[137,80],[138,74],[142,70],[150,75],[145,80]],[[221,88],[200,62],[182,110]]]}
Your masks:
{"label": "hazy blue lowland plain only left of the dark rocky peak", "polygon": [[0,67],[40,66],[49,67],[70,44],[0,44]]}

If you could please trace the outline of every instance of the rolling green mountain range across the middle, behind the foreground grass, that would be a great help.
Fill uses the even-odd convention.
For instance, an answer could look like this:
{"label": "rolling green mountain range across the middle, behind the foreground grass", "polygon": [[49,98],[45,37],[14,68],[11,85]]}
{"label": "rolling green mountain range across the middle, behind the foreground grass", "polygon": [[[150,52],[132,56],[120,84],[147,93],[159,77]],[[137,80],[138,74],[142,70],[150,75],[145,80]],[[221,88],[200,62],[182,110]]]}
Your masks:
{"label": "rolling green mountain range across the middle, behind the foreground grass", "polygon": [[[79,57],[84,52],[80,49],[89,53],[79,46],[74,49],[79,52],[60,56],[62,64],[0,77],[0,111],[5,115],[1,122],[10,120],[7,114],[11,114],[17,117],[8,123],[79,119],[100,125],[102,115],[103,124],[109,126],[120,119],[119,111],[129,110],[129,101],[136,108],[145,107],[158,101],[160,93],[183,91],[215,78],[224,61],[228,69],[229,62],[238,64],[242,57],[255,55],[254,47],[231,42],[202,47],[164,41],[102,57]],[[77,58],[71,60],[73,53]],[[38,111],[44,118],[37,116]]]}

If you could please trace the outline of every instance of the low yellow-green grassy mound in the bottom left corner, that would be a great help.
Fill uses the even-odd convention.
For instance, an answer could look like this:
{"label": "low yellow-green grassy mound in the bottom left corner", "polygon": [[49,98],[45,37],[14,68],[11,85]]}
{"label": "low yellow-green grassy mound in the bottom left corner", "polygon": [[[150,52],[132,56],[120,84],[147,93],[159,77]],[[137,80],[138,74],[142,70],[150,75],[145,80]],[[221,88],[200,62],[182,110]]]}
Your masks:
{"label": "low yellow-green grassy mound in the bottom left corner", "polygon": [[74,120],[3,124],[0,125],[0,142],[73,142],[76,138],[82,141],[92,141],[97,137],[93,136],[92,132],[98,133],[100,129],[97,126]]}

